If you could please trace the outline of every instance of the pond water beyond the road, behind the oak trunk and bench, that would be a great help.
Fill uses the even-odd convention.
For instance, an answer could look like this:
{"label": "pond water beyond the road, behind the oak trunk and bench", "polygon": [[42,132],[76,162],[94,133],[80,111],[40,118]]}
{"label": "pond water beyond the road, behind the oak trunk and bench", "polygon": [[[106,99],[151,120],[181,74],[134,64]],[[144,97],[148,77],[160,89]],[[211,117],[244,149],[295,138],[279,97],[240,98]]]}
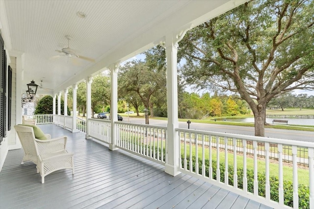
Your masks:
{"label": "pond water beyond the road, behind the oak trunk and bench", "polygon": [[[270,118],[270,117],[267,117],[266,122],[272,123],[273,119],[288,120],[288,125],[313,125],[314,126],[314,118]],[[240,118],[240,119],[227,118],[226,121],[253,122],[254,123],[254,117],[247,117],[247,118]]]}

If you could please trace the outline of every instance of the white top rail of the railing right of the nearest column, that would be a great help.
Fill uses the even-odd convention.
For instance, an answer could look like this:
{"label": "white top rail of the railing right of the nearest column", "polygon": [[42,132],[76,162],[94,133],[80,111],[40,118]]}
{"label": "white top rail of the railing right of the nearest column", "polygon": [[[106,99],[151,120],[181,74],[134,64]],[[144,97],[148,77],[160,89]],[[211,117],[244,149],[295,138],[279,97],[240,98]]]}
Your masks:
{"label": "white top rail of the railing right of the nearest column", "polygon": [[295,141],[295,140],[289,140],[289,139],[256,137],[256,136],[249,136],[249,135],[230,134],[230,133],[214,132],[214,131],[202,131],[202,130],[186,129],[186,128],[176,128],[176,131],[190,132],[190,133],[195,133],[195,134],[207,134],[207,135],[212,135],[212,136],[222,136],[222,137],[229,137],[229,138],[236,138],[236,139],[256,140],[256,141],[269,142],[269,143],[295,145],[298,147],[302,146],[302,147],[314,148],[314,142],[309,142],[309,141]]}

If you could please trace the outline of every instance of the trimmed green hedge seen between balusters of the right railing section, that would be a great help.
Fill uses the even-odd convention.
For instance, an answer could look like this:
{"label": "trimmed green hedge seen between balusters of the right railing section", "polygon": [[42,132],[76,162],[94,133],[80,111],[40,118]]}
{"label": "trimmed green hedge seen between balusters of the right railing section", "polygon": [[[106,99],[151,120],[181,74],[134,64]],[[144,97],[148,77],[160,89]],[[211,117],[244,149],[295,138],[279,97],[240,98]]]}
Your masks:
{"label": "trimmed green hedge seen between balusters of the right railing section", "polygon": [[[182,159],[184,156],[182,155]],[[186,166],[189,169],[189,161],[190,157],[186,157]],[[195,172],[195,156],[192,157],[193,161],[193,172]],[[202,159],[198,159],[199,163],[199,174],[202,174]],[[220,163],[220,182],[225,182],[225,164]],[[183,166],[183,161],[182,161]],[[206,167],[206,176],[209,176],[209,160],[205,160]],[[212,178],[216,180],[216,169],[217,163],[216,161],[212,161]],[[237,168],[237,187],[243,189],[243,168]],[[259,195],[265,197],[265,182],[266,182],[266,174],[265,172],[258,173],[258,185],[259,185]],[[270,183],[270,199],[276,202],[279,202],[279,179],[276,176],[269,177]],[[228,165],[228,184],[234,185],[234,167],[232,165]],[[249,192],[254,191],[254,170],[247,169],[247,190]],[[299,209],[310,209],[310,188],[306,185],[298,186],[299,192]],[[284,181],[284,204],[290,207],[293,207],[293,184],[291,181]]]}

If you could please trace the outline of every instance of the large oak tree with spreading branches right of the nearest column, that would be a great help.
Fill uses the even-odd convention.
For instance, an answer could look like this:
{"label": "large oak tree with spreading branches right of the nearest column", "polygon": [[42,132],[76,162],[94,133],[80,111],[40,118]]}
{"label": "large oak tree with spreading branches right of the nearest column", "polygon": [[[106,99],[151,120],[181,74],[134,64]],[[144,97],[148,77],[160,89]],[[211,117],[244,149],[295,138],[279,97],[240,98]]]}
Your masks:
{"label": "large oak tree with spreading branches right of the nearest column", "polygon": [[193,28],[179,43],[186,81],[238,93],[264,136],[273,97],[314,88],[313,8],[313,0],[252,0]]}

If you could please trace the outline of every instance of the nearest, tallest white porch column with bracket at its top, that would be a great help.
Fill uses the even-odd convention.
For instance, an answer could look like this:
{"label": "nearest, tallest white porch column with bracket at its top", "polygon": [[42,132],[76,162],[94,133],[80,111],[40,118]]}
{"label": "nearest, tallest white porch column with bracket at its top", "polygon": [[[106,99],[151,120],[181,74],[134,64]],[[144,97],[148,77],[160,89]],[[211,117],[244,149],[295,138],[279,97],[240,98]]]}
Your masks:
{"label": "nearest, tallest white porch column with bracket at its top", "polygon": [[183,38],[186,31],[180,35],[166,36],[165,48],[167,59],[167,159],[165,164],[165,172],[176,176],[180,172],[179,168],[179,149],[180,141],[176,128],[179,127],[178,122],[178,78],[177,78],[177,52],[178,42]]}

